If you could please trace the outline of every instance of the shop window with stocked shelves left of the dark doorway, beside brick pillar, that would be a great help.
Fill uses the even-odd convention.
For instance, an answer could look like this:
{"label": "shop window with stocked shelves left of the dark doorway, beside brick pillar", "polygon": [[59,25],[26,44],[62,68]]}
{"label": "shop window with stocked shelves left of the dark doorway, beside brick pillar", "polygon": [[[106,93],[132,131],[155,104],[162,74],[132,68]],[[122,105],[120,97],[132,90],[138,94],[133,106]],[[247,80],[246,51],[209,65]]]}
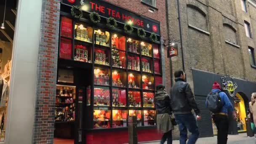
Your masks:
{"label": "shop window with stocked shelves left of the dark doorway, beside brick pillar", "polygon": [[75,120],[75,86],[57,85],[55,99],[55,121]]}

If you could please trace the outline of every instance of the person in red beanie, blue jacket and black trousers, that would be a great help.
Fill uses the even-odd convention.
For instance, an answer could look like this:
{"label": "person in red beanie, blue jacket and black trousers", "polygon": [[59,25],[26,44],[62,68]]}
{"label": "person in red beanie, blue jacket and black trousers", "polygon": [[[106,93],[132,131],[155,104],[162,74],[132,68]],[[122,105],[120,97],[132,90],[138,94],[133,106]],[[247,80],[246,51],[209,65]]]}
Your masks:
{"label": "person in red beanie, blue jacket and black trousers", "polygon": [[[231,110],[233,112],[233,118],[236,118],[236,114],[234,108],[229,101],[229,98],[226,93],[221,91],[221,86],[218,82],[213,83],[212,93],[219,93],[219,97],[221,102],[223,103],[223,107],[221,111],[213,114],[213,121],[218,129],[218,144],[227,144],[227,135],[229,130],[229,120],[227,115],[227,110]],[[206,104],[207,106],[207,104]]]}

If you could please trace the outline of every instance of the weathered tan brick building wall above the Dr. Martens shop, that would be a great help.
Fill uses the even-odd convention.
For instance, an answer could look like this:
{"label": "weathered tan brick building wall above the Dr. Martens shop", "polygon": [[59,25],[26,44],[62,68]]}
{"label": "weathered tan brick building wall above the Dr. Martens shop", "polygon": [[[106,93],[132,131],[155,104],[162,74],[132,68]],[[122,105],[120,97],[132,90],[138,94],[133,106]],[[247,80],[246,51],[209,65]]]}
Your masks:
{"label": "weathered tan brick building wall above the Dr. Martens shop", "polygon": [[[256,48],[256,6],[248,1],[246,5],[247,13],[242,10],[240,0],[180,0],[185,72],[192,88],[192,68],[256,81],[256,69],[251,67],[248,54],[248,46]],[[180,39],[177,17],[177,1],[168,0],[170,40]],[[250,23],[252,38],[245,35],[244,21]],[[182,69],[180,44],[179,56],[171,58],[171,65],[173,73]],[[199,127],[201,136],[211,136],[211,117],[205,108],[205,98],[196,96],[203,116]]]}

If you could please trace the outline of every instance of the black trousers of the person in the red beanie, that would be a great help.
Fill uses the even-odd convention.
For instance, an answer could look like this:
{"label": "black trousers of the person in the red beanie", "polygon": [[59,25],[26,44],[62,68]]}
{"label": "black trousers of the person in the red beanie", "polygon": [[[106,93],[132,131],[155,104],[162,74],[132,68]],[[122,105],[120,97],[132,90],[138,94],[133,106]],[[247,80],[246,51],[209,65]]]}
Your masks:
{"label": "black trousers of the person in the red beanie", "polygon": [[229,119],[227,115],[213,115],[214,123],[218,130],[218,144],[227,144]]}

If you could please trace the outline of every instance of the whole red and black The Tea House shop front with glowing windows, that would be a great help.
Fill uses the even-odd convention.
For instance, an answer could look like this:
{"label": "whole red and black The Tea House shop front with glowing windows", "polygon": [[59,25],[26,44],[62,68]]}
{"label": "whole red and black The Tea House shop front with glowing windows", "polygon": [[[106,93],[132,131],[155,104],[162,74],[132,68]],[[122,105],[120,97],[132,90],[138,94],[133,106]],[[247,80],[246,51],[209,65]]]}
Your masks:
{"label": "whole red and black The Tea House shop front with glowing windows", "polygon": [[[71,15],[73,5],[81,6],[80,19]],[[91,20],[92,12],[99,22]],[[160,22],[100,0],[62,0],[60,14],[54,143],[128,143],[128,116],[137,117],[138,141],[159,140],[154,92],[162,83]],[[109,17],[116,27],[107,26]],[[139,28],[145,37],[137,35]]]}

